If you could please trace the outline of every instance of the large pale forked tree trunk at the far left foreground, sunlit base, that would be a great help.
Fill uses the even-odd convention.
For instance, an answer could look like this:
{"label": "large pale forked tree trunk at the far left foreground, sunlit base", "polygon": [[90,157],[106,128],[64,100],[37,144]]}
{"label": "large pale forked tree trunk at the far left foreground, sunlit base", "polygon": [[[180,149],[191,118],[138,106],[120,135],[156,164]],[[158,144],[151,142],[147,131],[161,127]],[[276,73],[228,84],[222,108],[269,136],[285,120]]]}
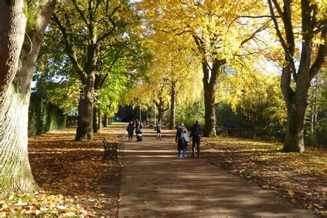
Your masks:
{"label": "large pale forked tree trunk at the far left foreground, sunlit base", "polygon": [[[54,10],[54,1],[42,2],[26,34],[24,1],[0,1],[0,141],[1,195],[8,192],[32,192],[35,183],[28,161],[28,105],[30,83],[44,30]],[[21,52],[23,50],[23,52]],[[21,68],[18,70],[19,58]],[[15,79],[14,79],[15,78]],[[12,82],[14,79],[14,82]]]}

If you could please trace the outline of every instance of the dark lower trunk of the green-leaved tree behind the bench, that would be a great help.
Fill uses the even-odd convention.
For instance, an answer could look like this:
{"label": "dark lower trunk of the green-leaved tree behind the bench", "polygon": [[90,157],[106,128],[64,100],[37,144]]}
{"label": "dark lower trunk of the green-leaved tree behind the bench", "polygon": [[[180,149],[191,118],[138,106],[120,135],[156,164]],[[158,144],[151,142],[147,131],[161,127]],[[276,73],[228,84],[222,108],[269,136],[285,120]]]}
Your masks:
{"label": "dark lower trunk of the green-leaved tree behind the bench", "polygon": [[93,102],[94,102],[94,86],[95,72],[90,73],[86,77],[86,83],[81,90],[79,98],[79,118],[77,120],[77,130],[75,141],[93,140]]}

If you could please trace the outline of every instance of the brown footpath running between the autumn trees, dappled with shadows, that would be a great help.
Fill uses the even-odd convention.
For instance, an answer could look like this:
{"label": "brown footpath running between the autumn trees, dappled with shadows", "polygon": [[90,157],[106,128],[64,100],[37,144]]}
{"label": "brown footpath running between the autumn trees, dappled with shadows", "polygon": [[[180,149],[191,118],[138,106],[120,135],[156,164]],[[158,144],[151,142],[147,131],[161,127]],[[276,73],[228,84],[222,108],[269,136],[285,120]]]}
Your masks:
{"label": "brown footpath running between the autumn trees, dappled with shadows", "polygon": [[125,143],[118,217],[315,217],[189,153],[178,158],[173,136],[155,135]]}

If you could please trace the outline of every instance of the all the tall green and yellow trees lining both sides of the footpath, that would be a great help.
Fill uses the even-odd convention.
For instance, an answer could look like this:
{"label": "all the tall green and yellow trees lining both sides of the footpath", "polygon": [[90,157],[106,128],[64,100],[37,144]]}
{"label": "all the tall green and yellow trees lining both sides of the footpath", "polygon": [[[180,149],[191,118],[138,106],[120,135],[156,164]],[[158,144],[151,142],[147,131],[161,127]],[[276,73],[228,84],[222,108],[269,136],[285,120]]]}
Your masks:
{"label": "all the tall green and yellow trees lining both sides of the footpath", "polygon": [[[49,92],[62,108],[70,108],[67,101],[76,102],[78,95],[75,139],[92,140],[99,127],[94,123],[101,120],[97,113],[114,112],[126,99],[144,107],[155,103],[159,119],[170,108],[172,128],[176,104],[192,103],[201,93],[204,135],[215,136],[215,102],[224,68],[230,66],[251,81],[246,78],[261,77],[259,60],[279,61],[287,109],[284,150],[303,152],[310,81],[326,56],[325,11],[314,0],[1,1],[1,194],[37,189],[27,150],[35,66],[37,87],[45,92],[58,81],[66,84],[57,94]],[[242,80],[235,83],[245,87]],[[235,83],[226,90],[236,90]],[[235,102],[251,88],[235,92]]]}

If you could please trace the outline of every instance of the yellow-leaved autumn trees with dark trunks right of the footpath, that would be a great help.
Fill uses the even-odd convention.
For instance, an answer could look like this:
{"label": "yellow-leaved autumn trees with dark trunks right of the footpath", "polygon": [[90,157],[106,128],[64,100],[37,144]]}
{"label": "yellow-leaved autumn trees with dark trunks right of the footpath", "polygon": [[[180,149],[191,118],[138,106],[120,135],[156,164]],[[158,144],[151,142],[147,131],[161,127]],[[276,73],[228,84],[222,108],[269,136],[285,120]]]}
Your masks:
{"label": "yellow-leaved autumn trees with dark trunks right of the footpath", "polygon": [[[216,134],[215,102],[224,66],[251,77],[258,75],[260,60],[277,61],[282,67],[280,86],[287,109],[284,150],[304,152],[308,90],[326,57],[326,6],[321,1],[166,0],[141,1],[138,7],[148,30],[145,34],[155,44],[152,50],[165,48],[161,52],[165,55],[175,48],[184,61],[188,55],[180,51],[188,50],[199,63],[205,136]],[[155,61],[155,66],[159,65],[160,60]],[[170,68],[160,72],[166,75]],[[192,75],[192,68],[186,75]],[[170,88],[170,92],[174,95],[175,89]]]}

